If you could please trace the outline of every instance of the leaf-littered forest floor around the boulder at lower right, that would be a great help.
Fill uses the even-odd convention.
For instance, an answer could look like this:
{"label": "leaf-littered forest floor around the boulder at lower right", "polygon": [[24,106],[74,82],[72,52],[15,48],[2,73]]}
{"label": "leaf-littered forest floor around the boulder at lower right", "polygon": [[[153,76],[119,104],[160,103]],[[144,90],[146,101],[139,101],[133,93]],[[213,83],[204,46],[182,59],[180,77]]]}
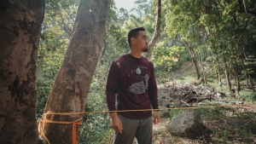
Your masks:
{"label": "leaf-littered forest floor around the boulder at lower right", "polygon": [[[153,126],[154,144],[256,143],[256,107],[233,108],[237,110],[236,114],[231,114],[231,109],[214,109],[213,112],[204,110],[201,113],[204,125],[212,133],[201,135],[195,140],[171,135],[171,118],[161,118],[160,123]],[[238,112],[241,110],[244,112]]]}

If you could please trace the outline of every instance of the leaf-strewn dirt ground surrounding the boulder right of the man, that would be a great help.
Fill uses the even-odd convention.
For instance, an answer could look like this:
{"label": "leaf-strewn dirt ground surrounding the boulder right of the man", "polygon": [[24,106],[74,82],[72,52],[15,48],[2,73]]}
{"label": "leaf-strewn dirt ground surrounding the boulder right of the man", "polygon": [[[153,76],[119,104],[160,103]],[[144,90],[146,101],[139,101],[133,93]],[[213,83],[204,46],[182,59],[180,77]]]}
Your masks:
{"label": "leaf-strewn dirt ground surrounding the boulder right of the man", "polygon": [[[189,140],[177,136],[172,136],[168,132],[168,127],[171,124],[170,118],[161,118],[159,124],[153,126],[154,144],[199,144],[199,143],[250,143],[256,144],[256,118],[246,118],[250,112],[256,112],[256,106],[234,106],[237,111],[245,112],[245,118],[236,118],[230,116],[225,118],[213,118],[205,120],[204,124],[212,130],[212,133],[202,135],[196,140]],[[251,125],[249,128],[254,138],[241,135],[241,128],[238,125]],[[223,134],[226,132],[226,134]],[[225,136],[224,136],[225,135]]]}

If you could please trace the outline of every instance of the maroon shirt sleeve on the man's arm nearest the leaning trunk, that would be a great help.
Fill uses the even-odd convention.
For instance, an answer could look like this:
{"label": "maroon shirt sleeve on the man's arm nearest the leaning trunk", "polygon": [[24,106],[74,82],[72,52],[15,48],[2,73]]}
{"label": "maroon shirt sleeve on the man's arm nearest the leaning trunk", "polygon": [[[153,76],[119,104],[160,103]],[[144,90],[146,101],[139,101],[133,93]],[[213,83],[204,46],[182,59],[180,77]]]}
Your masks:
{"label": "maroon shirt sleeve on the man's arm nearest the leaning trunk", "polygon": [[108,104],[109,111],[116,111],[115,95],[119,91],[119,83],[120,83],[119,77],[120,77],[120,70],[117,64],[113,61],[108,72],[108,80],[107,80],[107,86],[106,86],[107,104]]}

